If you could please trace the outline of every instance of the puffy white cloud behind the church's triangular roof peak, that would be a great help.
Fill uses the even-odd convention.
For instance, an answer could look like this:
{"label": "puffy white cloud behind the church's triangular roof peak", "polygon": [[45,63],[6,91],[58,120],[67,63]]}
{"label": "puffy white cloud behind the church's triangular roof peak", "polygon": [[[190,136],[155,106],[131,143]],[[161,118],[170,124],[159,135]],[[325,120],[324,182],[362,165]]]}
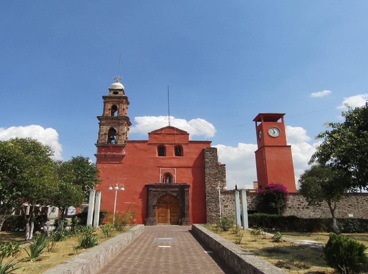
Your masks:
{"label": "puffy white cloud behind the church's triangular roof peak", "polygon": [[[163,128],[169,123],[168,116],[138,116],[134,118],[134,121],[137,125],[132,126],[130,132],[142,134]],[[215,126],[201,118],[187,121],[170,116],[170,124],[171,126],[187,131],[190,136],[213,137],[216,133]]]}

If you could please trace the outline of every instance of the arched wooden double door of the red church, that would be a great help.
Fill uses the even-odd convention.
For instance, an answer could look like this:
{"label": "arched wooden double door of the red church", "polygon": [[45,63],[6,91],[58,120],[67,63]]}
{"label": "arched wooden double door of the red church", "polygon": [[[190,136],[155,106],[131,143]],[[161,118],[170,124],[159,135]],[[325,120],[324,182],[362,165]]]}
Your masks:
{"label": "arched wooden double door of the red church", "polygon": [[180,202],[174,195],[166,194],[157,200],[156,220],[158,225],[178,225]]}

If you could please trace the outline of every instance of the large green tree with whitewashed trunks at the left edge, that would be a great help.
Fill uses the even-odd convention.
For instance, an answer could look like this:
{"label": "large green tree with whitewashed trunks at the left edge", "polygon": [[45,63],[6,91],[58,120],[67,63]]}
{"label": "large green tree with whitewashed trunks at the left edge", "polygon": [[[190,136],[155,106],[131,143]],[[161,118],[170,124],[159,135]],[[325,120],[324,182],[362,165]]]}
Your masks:
{"label": "large green tree with whitewashed trunks at the left edge", "polygon": [[28,204],[29,214],[24,212],[26,240],[32,239],[39,206],[49,204],[56,175],[52,155],[49,146],[35,139],[14,138],[0,142],[0,199],[4,204],[0,214],[10,212],[10,207],[21,208],[22,204]]}

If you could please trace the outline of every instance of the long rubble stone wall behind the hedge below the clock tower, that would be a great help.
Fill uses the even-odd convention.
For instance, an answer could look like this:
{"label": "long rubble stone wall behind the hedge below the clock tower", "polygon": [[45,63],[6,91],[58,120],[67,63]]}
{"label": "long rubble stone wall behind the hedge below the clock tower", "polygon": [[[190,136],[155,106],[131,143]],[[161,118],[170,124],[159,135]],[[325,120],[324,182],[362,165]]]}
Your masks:
{"label": "long rubble stone wall behind the hedge below the clock tower", "polygon": [[[257,193],[247,192],[248,211],[256,211]],[[235,218],[234,190],[221,193],[222,215]],[[218,207],[218,205],[217,205]],[[337,218],[368,219],[368,193],[346,193],[343,199],[337,203],[335,215]],[[300,193],[290,193],[289,201],[284,216],[298,216],[300,218],[331,218],[331,212],[326,202],[321,207],[308,205],[308,202]]]}

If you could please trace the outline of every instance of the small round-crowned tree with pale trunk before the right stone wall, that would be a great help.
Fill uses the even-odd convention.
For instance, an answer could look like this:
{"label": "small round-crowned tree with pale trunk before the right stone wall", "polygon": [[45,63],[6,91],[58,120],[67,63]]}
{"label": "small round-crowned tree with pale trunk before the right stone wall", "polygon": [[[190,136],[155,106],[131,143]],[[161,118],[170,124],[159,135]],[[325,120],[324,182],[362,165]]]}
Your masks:
{"label": "small round-crowned tree with pale trunk before the right stone wall", "polygon": [[338,232],[335,209],[351,185],[350,176],[343,170],[322,165],[305,170],[299,179],[300,193],[309,205],[321,206],[325,201],[330,209],[333,230]]}

